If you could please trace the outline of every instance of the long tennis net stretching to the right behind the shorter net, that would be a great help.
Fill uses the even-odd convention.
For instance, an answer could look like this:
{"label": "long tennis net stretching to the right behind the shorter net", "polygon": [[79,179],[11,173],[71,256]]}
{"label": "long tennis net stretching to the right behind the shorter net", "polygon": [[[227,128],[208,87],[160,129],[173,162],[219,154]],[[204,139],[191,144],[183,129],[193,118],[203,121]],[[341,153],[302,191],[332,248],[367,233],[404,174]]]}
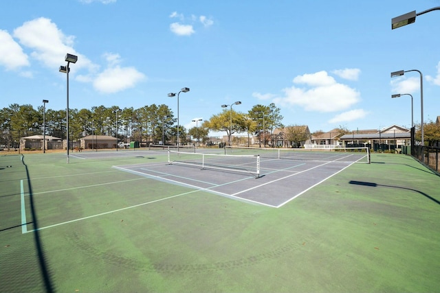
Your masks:
{"label": "long tennis net stretching to the right behind the shorter net", "polygon": [[246,148],[225,146],[225,154],[259,154],[261,158],[298,161],[370,163],[370,150],[360,148]]}

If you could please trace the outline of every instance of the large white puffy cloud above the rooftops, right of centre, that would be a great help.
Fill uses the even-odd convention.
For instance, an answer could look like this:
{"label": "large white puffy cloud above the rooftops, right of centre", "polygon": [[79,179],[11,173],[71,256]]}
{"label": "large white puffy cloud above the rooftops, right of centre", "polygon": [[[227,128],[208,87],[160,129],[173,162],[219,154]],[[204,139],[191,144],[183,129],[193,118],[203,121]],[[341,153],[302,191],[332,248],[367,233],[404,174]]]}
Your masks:
{"label": "large white puffy cloud above the rooftops, right of centre", "polygon": [[326,71],[298,75],[292,86],[283,89],[285,97],[276,97],[274,102],[282,106],[300,106],[308,111],[335,112],[350,108],[360,101],[360,93],[346,84],[336,82]]}

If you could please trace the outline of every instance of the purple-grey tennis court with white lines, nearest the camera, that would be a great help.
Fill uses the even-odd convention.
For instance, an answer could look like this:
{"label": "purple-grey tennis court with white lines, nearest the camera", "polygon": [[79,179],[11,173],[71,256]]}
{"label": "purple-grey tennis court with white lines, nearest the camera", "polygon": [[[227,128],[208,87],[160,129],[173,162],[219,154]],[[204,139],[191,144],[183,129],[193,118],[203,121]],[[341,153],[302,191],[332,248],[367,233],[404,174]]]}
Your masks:
{"label": "purple-grey tennis court with white lines, nearest the camera", "polygon": [[[169,149],[168,149],[169,150]],[[366,152],[285,152],[235,148],[206,152],[168,152],[168,163],[115,166],[167,183],[209,191],[247,202],[282,207],[349,165]],[[362,150],[362,149],[361,149]],[[233,153],[233,154],[232,154]],[[284,158],[284,159],[282,159]]]}

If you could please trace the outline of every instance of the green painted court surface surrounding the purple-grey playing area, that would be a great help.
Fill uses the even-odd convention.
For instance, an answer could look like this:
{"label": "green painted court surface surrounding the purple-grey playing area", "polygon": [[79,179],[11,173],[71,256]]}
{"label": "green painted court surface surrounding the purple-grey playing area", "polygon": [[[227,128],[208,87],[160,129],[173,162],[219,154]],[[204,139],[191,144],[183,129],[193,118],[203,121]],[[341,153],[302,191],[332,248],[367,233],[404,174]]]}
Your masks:
{"label": "green painted court surface surrounding the purple-grey playing area", "polygon": [[98,154],[0,156],[0,292],[439,292],[440,176],[410,156],[268,207],[115,168],[164,152]]}

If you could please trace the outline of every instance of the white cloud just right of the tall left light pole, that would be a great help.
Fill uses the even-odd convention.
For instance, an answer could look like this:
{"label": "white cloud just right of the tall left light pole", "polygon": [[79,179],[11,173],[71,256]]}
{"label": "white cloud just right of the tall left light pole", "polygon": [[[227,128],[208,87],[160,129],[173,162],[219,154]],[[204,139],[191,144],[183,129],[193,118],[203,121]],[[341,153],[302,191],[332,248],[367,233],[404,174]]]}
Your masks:
{"label": "white cloud just right of the tall left light pole", "polygon": [[145,75],[134,67],[115,66],[99,73],[94,80],[94,88],[100,93],[117,93],[129,89],[144,80]]}

